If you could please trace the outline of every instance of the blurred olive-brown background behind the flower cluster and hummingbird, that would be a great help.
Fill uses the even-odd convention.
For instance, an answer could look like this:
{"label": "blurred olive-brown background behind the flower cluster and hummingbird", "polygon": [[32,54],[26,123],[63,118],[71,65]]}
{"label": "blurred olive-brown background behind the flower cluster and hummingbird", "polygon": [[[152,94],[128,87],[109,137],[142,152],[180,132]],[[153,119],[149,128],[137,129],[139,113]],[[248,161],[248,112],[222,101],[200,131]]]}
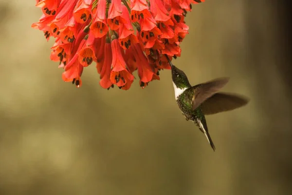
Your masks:
{"label": "blurred olive-brown background behind the flower cluster and hummingbird", "polygon": [[[208,0],[186,17],[174,63],[192,84],[230,76],[251,102],[207,116],[217,151],[174,99],[170,71],[144,90],[61,79],[32,29],[35,1],[0,0],[0,195],[289,195],[291,61],[279,1]],[[287,33],[286,33],[287,34]],[[287,34],[288,35],[288,34]]]}

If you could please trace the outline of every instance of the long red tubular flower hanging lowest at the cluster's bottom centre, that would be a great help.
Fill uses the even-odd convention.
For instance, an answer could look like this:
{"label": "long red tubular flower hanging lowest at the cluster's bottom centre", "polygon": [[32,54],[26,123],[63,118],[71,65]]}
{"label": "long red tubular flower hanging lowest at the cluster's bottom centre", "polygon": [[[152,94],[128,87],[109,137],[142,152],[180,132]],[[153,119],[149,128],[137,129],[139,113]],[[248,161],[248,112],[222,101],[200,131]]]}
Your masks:
{"label": "long red tubular flower hanging lowest at the cluster's bottom centre", "polygon": [[111,41],[112,50],[112,70],[110,72],[110,81],[119,88],[128,90],[134,80],[134,76],[128,72],[125,59],[121,53],[118,39]]}

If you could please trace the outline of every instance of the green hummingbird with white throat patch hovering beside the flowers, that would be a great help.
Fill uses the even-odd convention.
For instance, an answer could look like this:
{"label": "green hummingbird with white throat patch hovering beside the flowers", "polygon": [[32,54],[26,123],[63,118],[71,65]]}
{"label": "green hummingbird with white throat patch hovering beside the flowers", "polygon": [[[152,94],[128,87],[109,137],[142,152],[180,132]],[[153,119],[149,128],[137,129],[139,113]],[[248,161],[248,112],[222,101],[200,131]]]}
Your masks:
{"label": "green hummingbird with white throat patch hovering beside the flowers", "polygon": [[[168,59],[168,57],[166,56]],[[168,59],[171,66],[175,99],[186,120],[196,123],[207,137],[215,151],[215,145],[209,135],[205,115],[234,110],[249,102],[248,98],[237,94],[219,93],[229,78],[216,78],[195,86],[191,86],[185,73]]]}

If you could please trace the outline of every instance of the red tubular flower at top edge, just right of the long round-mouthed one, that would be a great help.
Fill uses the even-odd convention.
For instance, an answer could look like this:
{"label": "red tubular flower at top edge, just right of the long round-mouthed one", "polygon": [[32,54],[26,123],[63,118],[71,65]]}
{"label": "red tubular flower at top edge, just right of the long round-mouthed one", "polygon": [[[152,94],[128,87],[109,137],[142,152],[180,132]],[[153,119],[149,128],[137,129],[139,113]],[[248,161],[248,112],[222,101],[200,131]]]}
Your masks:
{"label": "red tubular flower at top edge, just right of the long round-mouthed one", "polygon": [[122,1],[112,0],[109,8],[108,24],[111,30],[118,30],[120,24],[126,23],[122,17]]}

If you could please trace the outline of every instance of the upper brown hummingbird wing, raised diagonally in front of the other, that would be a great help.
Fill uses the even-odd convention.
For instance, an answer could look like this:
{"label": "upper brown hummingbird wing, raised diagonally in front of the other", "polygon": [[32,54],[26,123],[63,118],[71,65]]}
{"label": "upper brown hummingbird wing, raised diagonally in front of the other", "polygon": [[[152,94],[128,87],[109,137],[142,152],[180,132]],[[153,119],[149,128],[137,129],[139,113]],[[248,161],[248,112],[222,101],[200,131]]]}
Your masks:
{"label": "upper brown hummingbird wing, raised diagonally in front of the other", "polygon": [[192,87],[194,90],[193,110],[198,108],[206,99],[212,97],[214,94],[226,85],[229,78],[216,78],[205,83],[201,83]]}

